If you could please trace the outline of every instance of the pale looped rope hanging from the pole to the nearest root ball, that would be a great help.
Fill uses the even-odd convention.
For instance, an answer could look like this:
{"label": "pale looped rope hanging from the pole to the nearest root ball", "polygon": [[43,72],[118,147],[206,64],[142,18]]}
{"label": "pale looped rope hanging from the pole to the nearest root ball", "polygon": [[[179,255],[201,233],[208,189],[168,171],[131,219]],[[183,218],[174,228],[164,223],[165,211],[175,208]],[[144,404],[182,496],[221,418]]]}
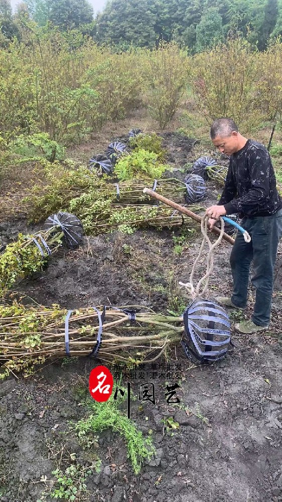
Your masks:
{"label": "pale looped rope hanging from the pole to the nearest root ball", "polygon": [[[199,254],[194,262],[194,265],[193,265],[193,268],[192,268],[192,271],[191,271],[191,274],[190,274],[190,278],[189,278],[189,282],[188,283],[183,283],[183,282],[179,282],[179,286],[183,287],[186,289],[186,291],[188,291],[188,293],[191,294],[192,296],[192,300],[195,300],[195,298],[198,298],[198,297],[201,297],[203,298],[207,289],[208,289],[208,285],[209,285],[209,279],[210,279],[210,276],[212,274],[212,271],[213,271],[213,252],[214,252],[214,249],[215,247],[221,242],[222,240],[222,236],[223,236],[223,233],[224,233],[224,220],[222,219],[222,217],[220,216],[220,222],[221,222],[221,229],[220,229],[220,235],[218,237],[218,239],[212,243],[208,237],[208,221],[209,221],[209,216],[207,215],[204,215],[202,217],[202,220],[201,220],[201,231],[202,231],[202,234],[203,234],[203,240],[202,240],[202,244],[201,244],[201,247],[200,247],[200,251],[199,251]],[[208,260],[207,260],[207,269],[206,269],[206,273],[204,275],[204,277],[202,277],[202,279],[200,279],[200,281],[198,282],[196,288],[194,288],[193,286],[193,279],[194,279],[194,274],[195,274],[195,270],[196,270],[196,267],[197,267],[197,264],[203,254],[203,249],[204,249],[204,245],[205,245],[205,242],[208,243],[208,246],[209,246],[209,254],[208,254]],[[202,290],[202,292],[200,293],[200,287],[202,285],[202,283],[205,282],[205,285],[204,285],[204,288]]]}

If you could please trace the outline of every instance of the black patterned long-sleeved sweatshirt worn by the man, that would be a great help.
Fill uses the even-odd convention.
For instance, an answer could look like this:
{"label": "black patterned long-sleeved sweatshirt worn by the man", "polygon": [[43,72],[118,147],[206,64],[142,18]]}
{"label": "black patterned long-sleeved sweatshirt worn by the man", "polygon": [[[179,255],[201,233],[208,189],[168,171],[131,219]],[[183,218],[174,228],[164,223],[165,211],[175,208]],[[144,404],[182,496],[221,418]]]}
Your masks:
{"label": "black patterned long-sleeved sweatshirt worn by the man", "polygon": [[230,156],[218,205],[224,206],[226,214],[239,213],[240,218],[269,216],[282,207],[271,159],[261,143],[247,140],[241,150]]}

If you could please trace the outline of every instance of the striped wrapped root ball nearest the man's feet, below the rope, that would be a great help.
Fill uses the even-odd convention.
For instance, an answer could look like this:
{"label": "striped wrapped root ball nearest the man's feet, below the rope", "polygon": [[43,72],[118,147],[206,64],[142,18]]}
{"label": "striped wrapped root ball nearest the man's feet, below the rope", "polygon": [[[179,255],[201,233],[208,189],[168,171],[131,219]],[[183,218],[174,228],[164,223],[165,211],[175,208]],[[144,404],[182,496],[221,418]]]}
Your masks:
{"label": "striped wrapped root ball nearest the man's feet, below the rope", "polygon": [[222,359],[230,344],[230,321],[215,302],[196,298],[183,314],[185,334],[181,344],[193,362],[211,364]]}

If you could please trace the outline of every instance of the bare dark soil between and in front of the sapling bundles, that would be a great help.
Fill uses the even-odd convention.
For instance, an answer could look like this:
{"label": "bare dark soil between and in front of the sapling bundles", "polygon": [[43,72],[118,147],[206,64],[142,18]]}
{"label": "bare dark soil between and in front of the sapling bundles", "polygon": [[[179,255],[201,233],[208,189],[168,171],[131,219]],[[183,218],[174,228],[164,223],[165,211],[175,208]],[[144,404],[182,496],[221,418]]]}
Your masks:
{"label": "bare dark soil between and in front of the sapling bundles", "polygon": [[[147,116],[138,120],[137,113],[134,119],[107,126],[91,142],[69,151],[69,156],[88,161],[131,127],[156,130]],[[176,127],[177,121],[171,129]],[[166,139],[176,168],[212,153],[201,144],[185,152]],[[184,177],[183,172],[179,173]],[[219,187],[211,188],[203,206],[214,202],[219,191]],[[23,218],[6,218],[0,224],[6,239],[19,229],[27,229]],[[132,236],[114,232],[85,238],[78,250],[60,252],[50,260],[46,271],[21,282],[17,290],[26,303],[59,303],[70,309],[110,303],[144,305],[162,313],[167,309],[179,311],[188,300],[182,297],[177,284],[188,280],[201,242],[201,234],[197,233],[187,238],[183,249],[176,253],[172,237],[182,231],[152,229]],[[125,442],[118,433],[95,433],[98,448],[91,446],[89,437],[83,449],[70,432],[70,422],[89,415],[83,399],[88,394],[90,370],[99,360],[56,360],[29,378],[12,375],[1,383],[0,500],[36,502],[42,490],[54,481],[52,471],[57,464],[78,462],[87,467],[96,456],[101,460],[100,472],[92,469],[86,478],[87,490],[76,500],[282,500],[281,250],[280,246],[268,332],[247,337],[232,332],[234,347],[223,361],[212,366],[192,365],[181,347],[176,347],[169,361],[160,360],[154,367],[144,368],[146,381],[156,386],[156,404],[132,400],[131,419],[144,436],[151,433],[156,453],[138,475],[132,471]],[[230,244],[222,242],[215,256],[210,298],[231,292],[229,253]],[[205,266],[203,258],[198,278]],[[232,322],[248,318],[253,302],[254,291],[250,288],[247,311],[232,314]],[[124,382],[129,381],[132,395],[138,396],[140,382],[135,377],[134,371],[127,373]],[[168,383],[180,385],[178,405],[166,402]],[[170,417],[179,424],[176,430],[166,427],[164,419]],[[46,496],[43,500],[51,499]]]}

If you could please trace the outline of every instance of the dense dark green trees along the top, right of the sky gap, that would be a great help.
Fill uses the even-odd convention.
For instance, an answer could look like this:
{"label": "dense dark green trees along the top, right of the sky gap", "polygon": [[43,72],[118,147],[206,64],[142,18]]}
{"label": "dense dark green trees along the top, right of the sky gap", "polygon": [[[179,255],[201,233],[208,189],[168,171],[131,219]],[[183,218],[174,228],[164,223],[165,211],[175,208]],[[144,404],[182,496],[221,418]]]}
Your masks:
{"label": "dense dark green trees along the top, right of the sky gap", "polygon": [[[282,33],[279,0],[108,0],[96,18],[98,42],[153,47],[176,41],[193,53],[226,39],[230,31],[259,50]],[[136,22],[137,21],[137,22]]]}

